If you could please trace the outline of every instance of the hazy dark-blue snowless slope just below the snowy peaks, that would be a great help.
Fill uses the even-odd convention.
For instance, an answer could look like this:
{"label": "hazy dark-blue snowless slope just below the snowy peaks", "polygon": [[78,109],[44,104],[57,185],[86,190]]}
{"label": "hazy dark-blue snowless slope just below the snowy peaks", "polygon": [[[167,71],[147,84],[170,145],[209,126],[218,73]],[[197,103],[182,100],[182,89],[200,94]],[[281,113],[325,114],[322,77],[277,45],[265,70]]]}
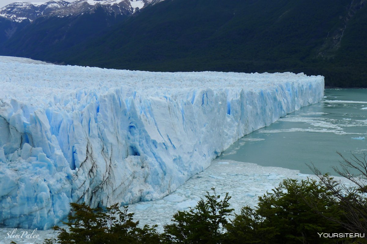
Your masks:
{"label": "hazy dark-blue snowless slope just below the snowy peaks", "polygon": [[74,45],[105,34],[111,26],[123,22],[127,15],[111,15],[97,6],[86,14],[41,16],[17,31],[3,44],[3,51],[9,56],[36,57],[52,56]]}

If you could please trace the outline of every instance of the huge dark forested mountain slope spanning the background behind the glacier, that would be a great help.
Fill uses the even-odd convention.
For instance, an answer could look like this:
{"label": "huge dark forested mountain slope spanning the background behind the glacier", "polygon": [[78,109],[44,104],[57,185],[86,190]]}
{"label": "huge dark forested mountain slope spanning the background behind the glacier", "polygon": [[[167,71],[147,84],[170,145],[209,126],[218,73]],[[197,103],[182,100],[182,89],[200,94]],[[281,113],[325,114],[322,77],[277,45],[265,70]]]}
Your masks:
{"label": "huge dark forested mountain slope spanning the background behind the glacier", "polygon": [[166,0],[63,49],[40,47],[39,29],[13,35],[1,53],[116,69],[304,72],[367,87],[364,0]]}

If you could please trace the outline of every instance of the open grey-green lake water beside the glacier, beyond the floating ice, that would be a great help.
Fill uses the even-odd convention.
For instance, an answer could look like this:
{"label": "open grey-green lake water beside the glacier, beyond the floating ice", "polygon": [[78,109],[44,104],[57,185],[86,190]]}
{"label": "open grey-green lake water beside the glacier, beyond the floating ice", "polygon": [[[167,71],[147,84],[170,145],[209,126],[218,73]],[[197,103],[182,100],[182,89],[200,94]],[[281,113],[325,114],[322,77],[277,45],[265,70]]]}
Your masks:
{"label": "open grey-green lake water beside the glacier, beyond the floating ice", "polygon": [[[365,109],[364,109],[365,108]],[[352,138],[365,137],[366,140]],[[336,175],[341,152],[367,153],[367,89],[325,89],[323,101],[301,108],[254,131],[225,150],[219,159],[298,169],[306,164]]]}

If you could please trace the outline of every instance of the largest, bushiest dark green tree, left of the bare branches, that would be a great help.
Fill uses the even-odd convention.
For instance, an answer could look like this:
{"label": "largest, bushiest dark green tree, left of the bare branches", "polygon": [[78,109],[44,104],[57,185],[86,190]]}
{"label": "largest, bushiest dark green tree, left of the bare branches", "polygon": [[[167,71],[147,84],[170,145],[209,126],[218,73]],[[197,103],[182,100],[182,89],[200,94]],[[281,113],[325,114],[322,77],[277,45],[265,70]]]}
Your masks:
{"label": "largest, bushiest dark green tree, left of the bare branches", "polygon": [[[314,210],[307,202],[317,206]],[[272,192],[259,197],[258,206],[243,207],[227,227],[232,243],[333,243],[317,233],[343,233],[340,225],[323,219],[342,216],[337,202],[316,180],[284,179]]]}

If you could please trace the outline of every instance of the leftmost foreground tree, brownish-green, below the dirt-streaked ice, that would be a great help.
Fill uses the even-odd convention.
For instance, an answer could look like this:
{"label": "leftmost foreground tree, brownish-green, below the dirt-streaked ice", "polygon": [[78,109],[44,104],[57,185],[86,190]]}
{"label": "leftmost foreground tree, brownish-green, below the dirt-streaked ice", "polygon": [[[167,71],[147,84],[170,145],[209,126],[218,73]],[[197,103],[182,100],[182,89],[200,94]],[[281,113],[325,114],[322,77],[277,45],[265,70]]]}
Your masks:
{"label": "leftmost foreground tree, brownish-green, below the dirt-streaked ice", "polygon": [[145,225],[139,228],[139,221],[133,221],[133,213],[123,211],[116,203],[102,209],[92,209],[85,203],[70,203],[74,214],[68,216],[68,222],[63,222],[68,229],[54,226],[59,232],[58,243],[62,244],[157,244],[160,243],[160,234],[156,225]]}

